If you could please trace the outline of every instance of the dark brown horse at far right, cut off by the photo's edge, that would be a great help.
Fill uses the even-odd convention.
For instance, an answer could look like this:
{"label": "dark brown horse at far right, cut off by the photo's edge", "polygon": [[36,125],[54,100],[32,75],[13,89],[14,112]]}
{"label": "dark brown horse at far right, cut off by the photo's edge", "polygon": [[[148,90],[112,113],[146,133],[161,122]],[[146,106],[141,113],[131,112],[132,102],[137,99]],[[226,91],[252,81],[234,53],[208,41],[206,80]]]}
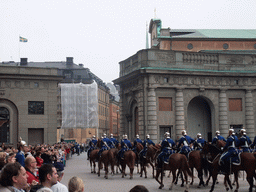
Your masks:
{"label": "dark brown horse at far right, cut off by the photo's edge", "polygon": [[[218,151],[219,149],[216,148],[215,146],[211,145],[211,144],[205,144],[204,148],[203,148],[203,153],[210,153],[212,157],[215,157],[213,162],[212,162],[212,177],[213,177],[213,184],[211,186],[211,190],[210,192],[212,192],[214,190],[214,185],[217,179],[217,175],[220,169],[220,165],[219,165],[219,159],[220,159],[220,151]],[[256,159],[255,156],[252,153],[241,153],[240,154],[240,159],[241,159],[241,163],[240,165],[231,165],[231,169],[230,172],[234,173],[235,175],[235,181],[236,181],[236,189],[235,192],[238,191],[239,189],[239,183],[238,183],[238,173],[240,170],[244,170],[246,172],[246,179],[247,182],[249,183],[250,187],[249,187],[249,192],[252,192],[252,188],[253,188],[253,177],[255,175],[255,169],[256,169]],[[230,186],[230,188],[232,189],[232,185],[229,179],[229,173],[225,174],[225,180],[228,181],[228,184]],[[226,187],[226,189],[228,190],[228,188]]]}

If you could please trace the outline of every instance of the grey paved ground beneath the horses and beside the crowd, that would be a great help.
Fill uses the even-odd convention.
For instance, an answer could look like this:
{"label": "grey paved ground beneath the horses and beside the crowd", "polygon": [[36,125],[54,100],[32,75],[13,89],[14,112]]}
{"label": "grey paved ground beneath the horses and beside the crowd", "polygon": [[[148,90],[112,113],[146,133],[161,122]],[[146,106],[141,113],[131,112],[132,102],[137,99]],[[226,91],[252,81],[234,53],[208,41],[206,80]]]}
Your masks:
{"label": "grey paved ground beneath the horses and beside the crowd", "polygon": [[[83,179],[85,184],[85,191],[86,192],[128,192],[133,186],[135,185],[144,185],[148,188],[150,192],[164,192],[169,191],[170,183],[172,178],[164,177],[164,188],[158,189],[159,184],[156,182],[155,179],[152,178],[152,171],[148,168],[148,178],[141,178],[139,174],[137,174],[137,169],[134,171],[134,178],[132,180],[129,179],[129,176],[127,175],[125,178],[121,178],[121,174],[117,175],[109,175],[108,179],[104,179],[104,172],[101,170],[101,176],[98,177],[97,174],[92,174],[90,169],[89,161],[86,160],[87,158],[86,153],[82,153],[80,156],[77,156],[76,154],[73,155],[71,159],[67,161],[67,166],[65,167],[65,174],[64,178],[62,180],[62,183],[68,186],[68,180],[72,176],[78,176]],[[97,167],[96,167],[97,168]],[[98,170],[98,169],[97,169]],[[126,171],[128,173],[128,169]],[[245,192],[248,191],[248,183],[245,179],[245,174],[243,175],[243,172],[240,174],[239,178],[239,191]],[[244,178],[243,178],[244,177]],[[223,192],[225,191],[224,185],[223,185],[223,176],[218,176],[220,184],[215,185],[215,190],[217,192]],[[195,191],[195,192],[204,192],[204,191],[210,191],[210,186],[197,188],[198,179],[195,179],[194,185],[189,186],[189,191]],[[210,185],[212,183],[210,182]],[[174,185],[172,191],[184,191],[184,187],[180,187],[180,182],[178,185]],[[255,190],[255,189],[254,189]],[[234,191],[234,190],[233,190]]]}

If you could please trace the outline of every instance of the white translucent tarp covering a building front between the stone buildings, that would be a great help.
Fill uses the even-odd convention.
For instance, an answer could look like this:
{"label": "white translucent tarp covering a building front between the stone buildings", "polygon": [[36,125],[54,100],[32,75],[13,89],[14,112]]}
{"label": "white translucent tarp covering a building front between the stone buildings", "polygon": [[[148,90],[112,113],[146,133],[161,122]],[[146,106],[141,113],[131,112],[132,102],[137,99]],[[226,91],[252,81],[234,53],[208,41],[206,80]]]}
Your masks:
{"label": "white translucent tarp covering a building front between the stone buildings", "polygon": [[63,83],[61,86],[62,129],[98,127],[98,86]]}

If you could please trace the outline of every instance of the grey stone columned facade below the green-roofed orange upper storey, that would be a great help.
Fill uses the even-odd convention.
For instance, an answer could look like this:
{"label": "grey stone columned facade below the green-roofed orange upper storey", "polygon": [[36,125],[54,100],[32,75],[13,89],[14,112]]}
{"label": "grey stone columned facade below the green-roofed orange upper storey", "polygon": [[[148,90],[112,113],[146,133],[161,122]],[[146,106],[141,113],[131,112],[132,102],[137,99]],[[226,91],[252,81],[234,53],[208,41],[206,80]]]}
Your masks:
{"label": "grey stone columned facade below the green-roofed orange upper storey", "polygon": [[[255,54],[198,53],[140,50],[120,62],[120,128],[132,139],[150,134],[162,140],[170,130],[178,139],[186,129],[191,137],[201,132],[211,140],[216,130],[245,127],[255,136]],[[159,100],[170,98],[172,109],[162,111]],[[240,108],[233,109],[237,106]],[[138,131],[135,109],[138,108]]]}

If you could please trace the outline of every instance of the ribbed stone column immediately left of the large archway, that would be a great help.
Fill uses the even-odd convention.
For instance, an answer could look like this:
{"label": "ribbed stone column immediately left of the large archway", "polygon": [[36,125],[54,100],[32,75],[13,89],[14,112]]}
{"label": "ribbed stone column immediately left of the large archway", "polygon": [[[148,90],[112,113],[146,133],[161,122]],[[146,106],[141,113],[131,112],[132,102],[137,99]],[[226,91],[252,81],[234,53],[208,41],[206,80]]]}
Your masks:
{"label": "ribbed stone column immediately left of the large archway", "polygon": [[179,139],[182,134],[182,130],[185,129],[185,117],[184,117],[184,98],[183,90],[176,90],[176,101],[175,101],[175,124],[176,124],[176,139]]}

